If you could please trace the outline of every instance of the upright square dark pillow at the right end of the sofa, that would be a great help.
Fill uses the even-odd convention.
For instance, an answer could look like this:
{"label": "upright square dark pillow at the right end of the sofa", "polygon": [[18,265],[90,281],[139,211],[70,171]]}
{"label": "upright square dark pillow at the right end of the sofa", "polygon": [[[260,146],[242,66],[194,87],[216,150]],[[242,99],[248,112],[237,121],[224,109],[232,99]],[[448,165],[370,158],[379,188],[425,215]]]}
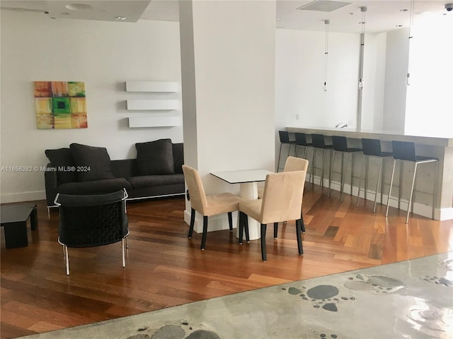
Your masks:
{"label": "upright square dark pillow at the right end of the sofa", "polygon": [[139,175],[174,174],[171,139],[159,139],[148,143],[136,143]]}

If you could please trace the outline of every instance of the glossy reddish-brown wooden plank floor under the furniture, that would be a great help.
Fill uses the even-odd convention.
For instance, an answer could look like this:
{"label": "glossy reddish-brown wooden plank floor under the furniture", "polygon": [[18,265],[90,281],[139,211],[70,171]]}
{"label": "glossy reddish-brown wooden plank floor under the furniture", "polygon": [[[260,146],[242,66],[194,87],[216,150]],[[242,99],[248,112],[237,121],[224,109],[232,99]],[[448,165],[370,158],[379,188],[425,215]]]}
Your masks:
{"label": "glossy reddish-brown wooden plank floor under the furniture", "polygon": [[304,194],[304,256],[297,254],[294,221],[268,227],[268,261],[259,240],[237,243],[235,232],[187,238],[183,198],[128,203],[129,257],[121,267],[121,243],[69,249],[71,275],[57,243],[57,210],[47,218],[38,201],[38,230],[30,244],[5,249],[1,236],[1,338],[57,330],[293,280],[355,270],[452,251],[453,220],[438,222],[321,188]]}

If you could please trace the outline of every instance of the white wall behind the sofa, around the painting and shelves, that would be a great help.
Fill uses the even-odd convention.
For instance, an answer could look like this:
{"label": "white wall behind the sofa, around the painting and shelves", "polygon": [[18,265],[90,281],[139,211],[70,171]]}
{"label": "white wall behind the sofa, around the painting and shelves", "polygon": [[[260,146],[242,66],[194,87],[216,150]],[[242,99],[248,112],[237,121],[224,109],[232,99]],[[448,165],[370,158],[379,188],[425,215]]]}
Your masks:
{"label": "white wall behind the sofa, around the painting and shelves", "polygon": [[[142,95],[126,93],[127,80],[180,83],[178,23],[52,20],[1,11],[1,202],[45,198],[43,172],[5,167],[44,166],[47,148],[84,143],[122,159],[135,157],[137,142],[182,142],[182,126],[128,128],[127,117],[142,113],[127,112],[125,100]],[[36,129],[33,81],[84,81],[88,129]],[[168,95],[180,100],[180,91]],[[151,114],[181,117],[181,109]]]}

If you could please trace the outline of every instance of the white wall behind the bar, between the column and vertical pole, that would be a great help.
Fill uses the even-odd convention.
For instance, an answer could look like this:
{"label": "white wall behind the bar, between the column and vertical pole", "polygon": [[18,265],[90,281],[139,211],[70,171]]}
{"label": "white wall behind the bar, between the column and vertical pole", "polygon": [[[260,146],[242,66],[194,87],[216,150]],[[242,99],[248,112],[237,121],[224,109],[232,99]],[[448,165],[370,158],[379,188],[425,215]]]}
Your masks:
{"label": "white wall behind the bar, between the column and vertical pole", "polygon": [[355,126],[360,35],[329,33],[327,92],[323,91],[324,42],[324,32],[277,29],[277,129],[287,126],[333,128],[340,122]]}

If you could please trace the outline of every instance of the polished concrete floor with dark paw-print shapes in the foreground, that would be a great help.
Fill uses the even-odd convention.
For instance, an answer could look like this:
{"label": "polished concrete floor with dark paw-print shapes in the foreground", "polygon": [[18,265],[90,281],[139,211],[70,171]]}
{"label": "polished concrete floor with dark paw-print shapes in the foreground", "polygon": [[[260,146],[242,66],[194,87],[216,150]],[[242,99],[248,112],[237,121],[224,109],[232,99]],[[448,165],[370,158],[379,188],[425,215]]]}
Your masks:
{"label": "polished concrete floor with dark paw-print shapes in the foreground", "polygon": [[453,338],[453,252],[26,338]]}

